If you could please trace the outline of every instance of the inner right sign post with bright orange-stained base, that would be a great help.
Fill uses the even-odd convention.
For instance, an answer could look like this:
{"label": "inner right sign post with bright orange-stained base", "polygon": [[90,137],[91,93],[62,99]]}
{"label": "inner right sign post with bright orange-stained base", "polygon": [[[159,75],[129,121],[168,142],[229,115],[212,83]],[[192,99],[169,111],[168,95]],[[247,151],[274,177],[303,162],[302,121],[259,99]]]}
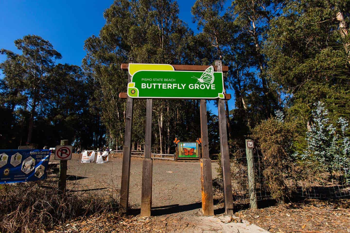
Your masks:
{"label": "inner right sign post with bright orange-stained base", "polygon": [[208,121],[206,100],[201,100],[200,112],[203,156],[203,158],[201,159],[202,212],[204,216],[212,216],[214,215],[213,181],[211,174],[211,160],[209,158],[208,147]]}

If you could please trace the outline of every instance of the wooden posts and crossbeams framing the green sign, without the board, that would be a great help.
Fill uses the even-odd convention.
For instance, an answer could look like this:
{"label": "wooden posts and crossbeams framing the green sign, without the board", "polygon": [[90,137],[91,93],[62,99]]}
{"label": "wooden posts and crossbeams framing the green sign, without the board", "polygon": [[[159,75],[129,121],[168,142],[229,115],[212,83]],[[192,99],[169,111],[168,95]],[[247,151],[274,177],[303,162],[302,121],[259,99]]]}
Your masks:
{"label": "wooden posts and crossbeams framing the green sign, without the board", "polygon": [[[134,63],[133,58],[129,58],[129,63]],[[181,71],[205,71],[209,66],[201,65],[172,65],[174,70]],[[128,64],[121,64],[123,71],[128,71]],[[228,66],[222,66],[221,60],[215,61],[214,70],[218,72],[228,72]],[[128,83],[131,82],[131,75],[128,74]],[[121,172],[120,204],[119,212],[125,213],[128,210],[129,183],[130,183],[130,161],[131,161],[131,132],[133,118],[133,98],[127,93],[119,93],[120,98],[126,99],[125,110],[125,135],[123,165]],[[225,213],[233,214],[232,184],[230,172],[229,145],[227,140],[225,100],[229,100],[231,95],[225,94],[225,99],[219,99],[218,118],[220,134],[220,150],[224,183]],[[145,159],[142,164],[142,188],[141,188],[141,216],[151,216],[152,206],[152,159],[151,159],[151,131],[152,131],[152,100],[146,99],[146,129],[145,129]],[[207,100],[200,99],[201,118],[201,138],[202,153],[201,161],[201,186],[202,186],[202,212],[204,216],[214,215],[211,159],[209,158],[208,147],[208,120],[207,120]],[[200,157],[201,157],[200,156]]]}

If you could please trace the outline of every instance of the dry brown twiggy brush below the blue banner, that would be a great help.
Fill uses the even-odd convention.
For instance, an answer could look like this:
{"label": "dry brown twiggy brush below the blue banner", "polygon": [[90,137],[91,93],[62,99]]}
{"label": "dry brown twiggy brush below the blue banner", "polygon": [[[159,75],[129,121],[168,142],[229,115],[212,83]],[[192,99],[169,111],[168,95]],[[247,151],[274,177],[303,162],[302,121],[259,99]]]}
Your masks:
{"label": "dry brown twiggy brush below the blue banner", "polygon": [[67,193],[62,198],[47,180],[0,185],[0,232],[43,232],[78,216],[116,208],[114,199],[99,197]]}

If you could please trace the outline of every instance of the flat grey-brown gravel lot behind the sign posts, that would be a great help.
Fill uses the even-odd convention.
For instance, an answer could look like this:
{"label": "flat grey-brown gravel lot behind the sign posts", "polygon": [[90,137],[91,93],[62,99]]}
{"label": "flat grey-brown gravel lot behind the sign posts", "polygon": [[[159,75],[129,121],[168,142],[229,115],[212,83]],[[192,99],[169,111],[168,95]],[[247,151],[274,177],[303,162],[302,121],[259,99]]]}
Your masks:
{"label": "flat grey-brown gravel lot behind the sign posts", "polygon": [[[51,158],[51,161],[52,162]],[[108,192],[119,196],[121,165],[123,158],[110,156],[104,164],[81,163],[81,154],[73,154],[68,161],[67,189],[73,192]],[[96,160],[96,159],[95,159]],[[57,162],[57,161],[54,161]],[[218,175],[218,164],[212,162],[213,179]],[[189,212],[201,209],[200,163],[153,160],[152,207],[153,214]],[[142,158],[131,158],[129,204],[140,208],[142,182]],[[156,209],[161,209],[157,211]]]}

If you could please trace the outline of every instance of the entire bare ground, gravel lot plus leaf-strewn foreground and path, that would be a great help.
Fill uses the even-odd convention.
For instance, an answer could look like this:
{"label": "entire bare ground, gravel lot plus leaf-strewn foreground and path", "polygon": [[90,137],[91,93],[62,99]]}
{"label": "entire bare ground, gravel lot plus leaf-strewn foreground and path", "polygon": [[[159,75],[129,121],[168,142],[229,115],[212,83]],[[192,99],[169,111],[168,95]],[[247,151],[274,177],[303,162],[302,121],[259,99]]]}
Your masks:
{"label": "entire bare ground, gravel lot plus leaf-strewn foreground and path", "polygon": [[[81,155],[80,155],[81,156]],[[79,155],[68,162],[68,191],[86,195],[97,192],[119,196],[122,158],[110,158],[105,164],[80,163]],[[212,162],[213,179],[218,164]],[[288,204],[259,203],[260,209],[236,206],[235,216],[219,219],[224,212],[222,197],[214,197],[216,216],[201,213],[200,163],[153,160],[152,217],[140,213],[142,159],[131,159],[131,214],[90,216],[57,226],[58,232],[350,232],[349,199],[299,199]],[[208,223],[210,223],[208,225]],[[259,226],[256,228],[255,225]]]}

